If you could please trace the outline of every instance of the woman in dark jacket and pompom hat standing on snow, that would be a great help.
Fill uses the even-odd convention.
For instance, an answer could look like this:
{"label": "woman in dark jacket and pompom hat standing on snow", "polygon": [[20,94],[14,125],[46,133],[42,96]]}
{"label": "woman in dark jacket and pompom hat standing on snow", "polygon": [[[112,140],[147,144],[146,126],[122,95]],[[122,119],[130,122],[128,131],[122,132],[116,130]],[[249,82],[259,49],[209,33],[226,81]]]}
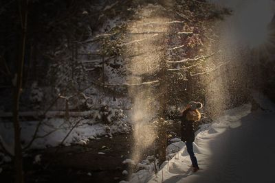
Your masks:
{"label": "woman in dark jacket and pompom hat standing on snow", "polygon": [[186,143],[186,148],[192,162],[193,172],[199,170],[197,158],[193,151],[193,142],[195,140],[194,123],[201,119],[201,114],[198,111],[201,108],[202,104],[200,102],[190,101],[181,114],[181,141]]}

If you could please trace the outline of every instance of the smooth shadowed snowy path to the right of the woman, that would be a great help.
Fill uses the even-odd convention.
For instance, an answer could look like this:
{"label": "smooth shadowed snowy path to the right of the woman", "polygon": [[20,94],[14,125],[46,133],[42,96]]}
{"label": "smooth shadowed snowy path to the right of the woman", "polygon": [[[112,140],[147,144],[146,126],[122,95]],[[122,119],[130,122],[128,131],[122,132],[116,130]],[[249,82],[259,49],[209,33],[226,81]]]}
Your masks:
{"label": "smooth shadowed snowy path to the right of the woman", "polygon": [[179,182],[274,182],[274,119],[274,114],[250,114],[240,127],[215,136],[203,170]]}

